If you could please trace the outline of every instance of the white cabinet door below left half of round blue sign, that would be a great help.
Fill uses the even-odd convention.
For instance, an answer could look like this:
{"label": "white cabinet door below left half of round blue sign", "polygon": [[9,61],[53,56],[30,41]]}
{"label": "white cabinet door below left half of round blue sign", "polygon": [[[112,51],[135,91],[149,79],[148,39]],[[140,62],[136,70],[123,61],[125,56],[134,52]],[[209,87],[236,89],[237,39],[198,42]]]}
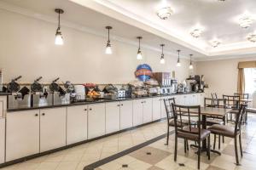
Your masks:
{"label": "white cabinet door below left half of round blue sign", "polygon": [[143,124],[143,99],[135,99],[132,104],[133,126]]}

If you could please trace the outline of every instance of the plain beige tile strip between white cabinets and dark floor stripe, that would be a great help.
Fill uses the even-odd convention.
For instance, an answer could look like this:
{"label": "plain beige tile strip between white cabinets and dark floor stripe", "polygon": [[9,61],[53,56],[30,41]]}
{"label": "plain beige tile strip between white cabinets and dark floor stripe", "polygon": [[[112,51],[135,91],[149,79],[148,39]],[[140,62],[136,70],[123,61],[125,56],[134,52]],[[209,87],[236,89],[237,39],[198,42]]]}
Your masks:
{"label": "plain beige tile strip between white cabinets and dark floor stripe", "polygon": [[154,139],[163,133],[166,133],[166,122],[155,122],[0,170],[83,170],[86,165],[127,150],[148,139]]}

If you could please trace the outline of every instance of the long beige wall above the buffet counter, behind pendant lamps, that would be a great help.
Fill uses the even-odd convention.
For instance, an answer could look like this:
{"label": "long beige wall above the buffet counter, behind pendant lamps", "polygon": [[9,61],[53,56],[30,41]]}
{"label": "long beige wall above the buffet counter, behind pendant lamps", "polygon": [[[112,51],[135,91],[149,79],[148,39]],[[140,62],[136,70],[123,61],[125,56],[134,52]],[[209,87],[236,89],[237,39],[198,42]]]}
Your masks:
{"label": "long beige wall above the buffet counter, behind pendant lamps", "polygon": [[[112,41],[113,54],[106,55],[103,37],[62,27],[64,45],[55,46],[54,24],[5,10],[0,10],[0,20],[3,82],[21,75],[20,82],[42,76],[42,82],[61,77],[61,81],[73,83],[123,83],[134,79],[140,63],[137,47],[125,42]],[[183,59],[183,67],[177,68],[177,56],[166,54],[166,65],[160,65],[160,53],[145,48],[143,57],[142,63],[148,63],[154,71],[175,70],[180,81],[189,76],[188,60]]]}

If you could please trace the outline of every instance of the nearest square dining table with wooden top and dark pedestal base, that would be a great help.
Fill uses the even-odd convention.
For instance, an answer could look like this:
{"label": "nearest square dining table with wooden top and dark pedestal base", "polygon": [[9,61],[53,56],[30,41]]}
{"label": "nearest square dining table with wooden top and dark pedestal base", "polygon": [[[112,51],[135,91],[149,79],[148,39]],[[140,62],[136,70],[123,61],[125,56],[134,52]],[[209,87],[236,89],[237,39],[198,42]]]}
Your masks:
{"label": "nearest square dining table with wooden top and dark pedestal base", "polygon": [[[225,109],[225,108],[216,108],[216,107],[201,107],[201,125],[203,129],[207,129],[207,116],[218,116],[224,117],[226,116],[232,109]],[[189,110],[190,113],[197,114],[198,110]],[[190,144],[190,146],[197,147],[195,144]],[[202,141],[201,151],[207,151],[207,139]],[[218,150],[211,150],[218,155],[221,153]]]}

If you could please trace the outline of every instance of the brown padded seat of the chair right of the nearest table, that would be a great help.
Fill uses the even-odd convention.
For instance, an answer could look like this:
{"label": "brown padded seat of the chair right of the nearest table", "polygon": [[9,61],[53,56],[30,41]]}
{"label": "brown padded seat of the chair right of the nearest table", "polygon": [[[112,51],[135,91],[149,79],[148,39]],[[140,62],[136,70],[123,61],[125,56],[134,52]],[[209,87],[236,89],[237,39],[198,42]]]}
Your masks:
{"label": "brown padded seat of the chair right of the nearest table", "polygon": [[221,134],[223,136],[227,136],[230,138],[233,138],[235,135],[235,127],[228,127],[225,125],[212,125],[211,127],[207,128],[208,130],[211,131],[211,133],[217,133],[217,134]]}

